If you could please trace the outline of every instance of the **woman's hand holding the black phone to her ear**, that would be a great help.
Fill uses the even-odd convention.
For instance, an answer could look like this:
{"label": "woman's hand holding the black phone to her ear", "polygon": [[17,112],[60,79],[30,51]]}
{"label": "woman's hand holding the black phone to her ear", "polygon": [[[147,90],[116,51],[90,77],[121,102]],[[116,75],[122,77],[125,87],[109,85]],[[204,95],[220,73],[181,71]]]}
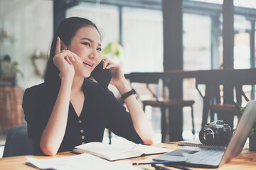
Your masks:
{"label": "woman's hand holding the black phone to her ear", "polygon": [[121,84],[122,81],[125,81],[125,77],[122,72],[120,64],[112,62],[105,56],[102,57],[102,60],[104,61],[103,69],[110,69],[113,73],[110,84],[117,86],[117,85]]}

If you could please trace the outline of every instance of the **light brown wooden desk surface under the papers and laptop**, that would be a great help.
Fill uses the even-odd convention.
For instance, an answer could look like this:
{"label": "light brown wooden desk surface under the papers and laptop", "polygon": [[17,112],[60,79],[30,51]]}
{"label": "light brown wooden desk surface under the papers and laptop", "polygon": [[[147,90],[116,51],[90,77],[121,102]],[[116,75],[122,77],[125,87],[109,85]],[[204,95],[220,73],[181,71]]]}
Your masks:
{"label": "light brown wooden desk surface under the papers and laptop", "polygon": [[[172,142],[170,144],[163,143],[163,144],[156,144],[155,147],[165,147],[169,149],[176,149],[179,146],[177,145],[177,142]],[[71,152],[62,152],[58,153],[55,157],[68,157],[73,156],[75,154]],[[43,156],[19,156],[19,157],[6,157],[0,159],[0,169],[5,170],[25,170],[25,169],[35,169],[31,166],[27,166],[25,164],[26,157],[34,157],[34,158],[44,158],[44,159],[50,159],[55,157],[43,157]],[[122,162],[152,162],[152,158],[156,157],[156,155],[150,155],[146,157],[137,157],[133,159],[124,159],[121,160]],[[150,165],[140,165],[140,167],[146,168],[146,169],[154,169]],[[174,168],[169,168],[174,169]],[[191,168],[191,169],[201,169],[201,168]],[[238,155],[235,159],[232,159],[228,164],[225,164],[221,166],[219,169],[256,169],[256,152],[250,152],[248,149],[248,146],[245,145],[245,149],[242,150],[241,154]],[[202,169],[203,170],[203,169]]]}

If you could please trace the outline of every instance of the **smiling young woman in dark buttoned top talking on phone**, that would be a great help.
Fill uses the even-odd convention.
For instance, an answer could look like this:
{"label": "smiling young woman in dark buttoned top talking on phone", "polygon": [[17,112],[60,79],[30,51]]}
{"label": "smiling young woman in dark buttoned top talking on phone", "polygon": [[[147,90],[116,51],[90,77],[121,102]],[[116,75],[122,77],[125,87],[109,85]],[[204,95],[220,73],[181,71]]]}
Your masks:
{"label": "smiling young woman in dark buttoned top talking on phone", "polygon": [[[53,156],[87,142],[102,142],[105,128],[132,142],[151,145],[154,132],[119,64],[102,57],[100,32],[78,17],[60,23],[50,48],[45,82],[26,89],[23,111],[34,153]],[[101,61],[112,70],[129,112],[109,89],[90,79]]]}

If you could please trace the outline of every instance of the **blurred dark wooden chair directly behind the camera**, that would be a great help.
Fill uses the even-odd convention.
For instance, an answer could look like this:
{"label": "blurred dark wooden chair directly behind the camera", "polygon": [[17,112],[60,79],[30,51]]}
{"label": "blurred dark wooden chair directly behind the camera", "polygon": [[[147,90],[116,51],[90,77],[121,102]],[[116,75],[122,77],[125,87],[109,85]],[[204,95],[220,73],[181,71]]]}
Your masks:
{"label": "blurred dark wooden chair directly behind the camera", "polygon": [[[238,81],[238,82],[237,82]],[[228,76],[225,74],[211,74],[208,77],[198,76],[196,77],[196,89],[200,96],[203,98],[203,120],[201,128],[207,123],[208,113],[210,113],[210,122],[214,121],[215,114],[217,114],[218,120],[224,120],[225,123],[230,125],[233,129],[233,118],[234,116],[240,116],[240,108],[242,103],[242,97],[246,101],[249,101],[245,93],[242,91],[242,81],[230,81]],[[206,86],[206,94],[203,96],[201,91],[198,89],[198,85],[203,84]],[[220,85],[229,86],[235,88],[235,99],[232,99],[230,103],[221,103],[220,96]],[[233,93],[233,92],[232,92]],[[234,96],[234,93],[232,94]],[[224,101],[224,100],[223,100]]]}

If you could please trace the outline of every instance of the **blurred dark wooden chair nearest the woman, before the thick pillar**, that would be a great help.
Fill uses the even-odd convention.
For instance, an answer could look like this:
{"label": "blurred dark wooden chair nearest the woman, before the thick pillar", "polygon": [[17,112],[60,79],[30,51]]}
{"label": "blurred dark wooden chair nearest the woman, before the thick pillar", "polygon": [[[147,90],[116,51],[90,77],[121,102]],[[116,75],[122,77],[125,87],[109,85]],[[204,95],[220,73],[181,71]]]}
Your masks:
{"label": "blurred dark wooden chair nearest the woman, before the thick pillar", "polygon": [[149,84],[159,84],[159,77],[144,77],[144,79],[139,79],[136,77],[136,74],[129,74],[129,81],[130,83],[143,83],[146,84],[146,88],[154,96],[153,99],[143,100],[143,110],[145,111],[146,106],[157,107],[161,109],[161,141],[165,142],[167,128],[169,127],[168,123],[166,122],[166,109],[173,108],[173,107],[191,107],[191,118],[192,118],[192,133],[193,137],[195,138],[195,127],[193,121],[193,103],[195,101],[187,101],[187,100],[178,100],[178,99],[169,99],[164,98],[160,99],[154,91],[149,88]]}

